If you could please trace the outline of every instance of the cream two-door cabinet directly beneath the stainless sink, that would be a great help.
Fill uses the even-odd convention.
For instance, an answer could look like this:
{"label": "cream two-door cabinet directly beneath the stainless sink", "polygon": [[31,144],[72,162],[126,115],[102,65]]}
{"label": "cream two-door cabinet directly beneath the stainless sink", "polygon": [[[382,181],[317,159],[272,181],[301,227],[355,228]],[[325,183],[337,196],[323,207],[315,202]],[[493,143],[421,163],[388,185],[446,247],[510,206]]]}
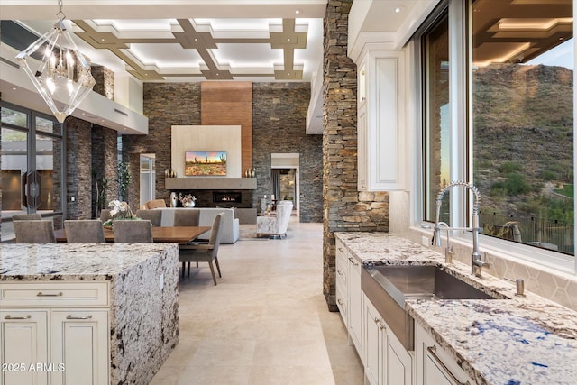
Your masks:
{"label": "cream two-door cabinet directly beneath the stainless sink", "polygon": [[366,296],[363,307],[365,379],[371,385],[411,385],[414,377],[412,353],[400,344]]}

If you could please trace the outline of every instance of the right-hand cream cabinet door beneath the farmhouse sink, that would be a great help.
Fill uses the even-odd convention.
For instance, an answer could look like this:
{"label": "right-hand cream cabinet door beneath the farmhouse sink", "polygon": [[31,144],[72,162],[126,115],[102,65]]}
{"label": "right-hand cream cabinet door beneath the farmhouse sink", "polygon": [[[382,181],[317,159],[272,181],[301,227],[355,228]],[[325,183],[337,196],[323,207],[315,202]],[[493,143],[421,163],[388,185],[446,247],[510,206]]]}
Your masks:
{"label": "right-hand cream cabinet door beneath the farmhouse sink", "polygon": [[387,330],[387,381],[388,385],[412,385],[413,358],[398,341],[397,336]]}

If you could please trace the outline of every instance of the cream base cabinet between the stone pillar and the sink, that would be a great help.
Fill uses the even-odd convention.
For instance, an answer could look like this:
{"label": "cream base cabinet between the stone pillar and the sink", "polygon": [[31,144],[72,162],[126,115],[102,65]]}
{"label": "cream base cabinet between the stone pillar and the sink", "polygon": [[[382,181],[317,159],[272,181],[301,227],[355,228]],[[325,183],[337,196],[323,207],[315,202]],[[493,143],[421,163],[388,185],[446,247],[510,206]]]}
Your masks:
{"label": "cream base cabinet between the stone pillar and the sink", "polygon": [[362,289],[361,262],[347,252],[340,240],[336,240],[336,306],[347,328],[349,344],[354,345],[364,361],[362,338]]}

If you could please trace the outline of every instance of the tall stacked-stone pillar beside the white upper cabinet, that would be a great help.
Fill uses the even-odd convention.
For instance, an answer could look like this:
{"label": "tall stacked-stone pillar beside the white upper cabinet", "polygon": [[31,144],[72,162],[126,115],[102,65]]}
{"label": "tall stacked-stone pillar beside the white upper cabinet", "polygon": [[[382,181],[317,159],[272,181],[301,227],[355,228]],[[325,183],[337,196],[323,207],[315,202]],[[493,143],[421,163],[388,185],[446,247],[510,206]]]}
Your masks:
{"label": "tall stacked-stone pillar beside the white upper cabinet", "polygon": [[346,56],[353,0],[329,0],[325,15],[323,80],[323,292],[337,311],[335,231],[389,231],[386,193],[357,191],[357,72]]}

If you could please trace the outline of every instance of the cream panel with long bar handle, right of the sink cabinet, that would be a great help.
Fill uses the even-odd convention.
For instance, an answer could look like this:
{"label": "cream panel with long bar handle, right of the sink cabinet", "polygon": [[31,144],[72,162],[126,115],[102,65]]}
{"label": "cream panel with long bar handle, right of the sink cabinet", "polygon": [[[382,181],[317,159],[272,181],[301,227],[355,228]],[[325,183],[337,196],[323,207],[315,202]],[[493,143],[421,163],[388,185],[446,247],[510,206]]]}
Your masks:
{"label": "cream panel with long bar handle, right of the sink cabinet", "polygon": [[417,325],[416,334],[417,385],[476,383],[422,326]]}

